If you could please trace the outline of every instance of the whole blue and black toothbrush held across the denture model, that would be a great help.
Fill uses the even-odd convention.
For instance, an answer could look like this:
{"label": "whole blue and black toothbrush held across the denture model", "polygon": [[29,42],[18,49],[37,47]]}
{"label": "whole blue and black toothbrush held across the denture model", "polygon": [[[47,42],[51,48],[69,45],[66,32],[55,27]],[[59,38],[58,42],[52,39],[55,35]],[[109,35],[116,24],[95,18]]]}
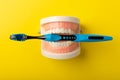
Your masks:
{"label": "whole blue and black toothbrush held across the denture model", "polygon": [[49,42],[57,41],[73,41],[73,42],[101,42],[109,41],[113,38],[111,36],[103,36],[96,34],[73,34],[73,35],[59,35],[59,34],[46,34],[42,36],[28,36],[26,34],[12,34],[11,40],[25,41],[28,39],[41,39]]}

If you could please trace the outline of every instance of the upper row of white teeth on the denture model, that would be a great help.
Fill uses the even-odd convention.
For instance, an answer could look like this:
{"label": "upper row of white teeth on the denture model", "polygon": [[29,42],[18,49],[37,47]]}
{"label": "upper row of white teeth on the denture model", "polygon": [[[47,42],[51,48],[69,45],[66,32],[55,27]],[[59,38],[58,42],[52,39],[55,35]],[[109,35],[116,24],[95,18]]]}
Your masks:
{"label": "upper row of white teeth on the denture model", "polygon": [[66,33],[66,34],[74,34],[75,32],[72,31],[71,29],[65,29],[65,28],[55,28],[55,29],[50,29],[48,31],[42,30],[41,34],[51,34],[51,33]]}

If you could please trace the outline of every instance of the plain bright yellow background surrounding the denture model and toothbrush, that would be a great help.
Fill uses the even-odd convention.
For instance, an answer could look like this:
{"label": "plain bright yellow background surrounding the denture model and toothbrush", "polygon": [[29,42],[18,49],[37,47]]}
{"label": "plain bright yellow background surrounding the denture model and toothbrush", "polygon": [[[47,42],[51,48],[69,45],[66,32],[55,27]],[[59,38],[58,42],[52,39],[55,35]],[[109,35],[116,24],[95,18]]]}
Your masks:
{"label": "plain bright yellow background surrounding the denture model and toothbrush", "polygon": [[[59,61],[41,55],[39,40],[9,39],[39,35],[40,19],[57,15],[78,17],[83,33],[114,40],[82,43],[80,56]],[[0,80],[120,80],[120,1],[0,0]]]}

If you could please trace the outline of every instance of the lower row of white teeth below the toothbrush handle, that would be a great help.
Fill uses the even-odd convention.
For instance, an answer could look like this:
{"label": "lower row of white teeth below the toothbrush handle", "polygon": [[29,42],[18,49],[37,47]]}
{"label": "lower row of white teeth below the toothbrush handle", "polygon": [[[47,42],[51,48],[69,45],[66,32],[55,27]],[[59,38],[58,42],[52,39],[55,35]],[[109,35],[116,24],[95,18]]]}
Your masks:
{"label": "lower row of white teeth below the toothbrush handle", "polygon": [[72,44],[71,41],[63,41],[63,42],[49,42],[52,47],[68,47]]}

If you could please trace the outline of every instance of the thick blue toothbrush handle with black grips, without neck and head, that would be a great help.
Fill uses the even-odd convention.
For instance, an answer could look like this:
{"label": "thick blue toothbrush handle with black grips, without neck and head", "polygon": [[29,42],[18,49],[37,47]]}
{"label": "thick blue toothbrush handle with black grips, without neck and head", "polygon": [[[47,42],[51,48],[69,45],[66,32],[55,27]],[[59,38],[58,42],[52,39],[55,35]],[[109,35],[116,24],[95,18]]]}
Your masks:
{"label": "thick blue toothbrush handle with black grips, without neck and head", "polygon": [[58,34],[46,34],[45,41],[73,41],[73,42],[100,42],[112,40],[111,36],[101,36],[95,34],[74,34],[74,35],[58,35]]}

